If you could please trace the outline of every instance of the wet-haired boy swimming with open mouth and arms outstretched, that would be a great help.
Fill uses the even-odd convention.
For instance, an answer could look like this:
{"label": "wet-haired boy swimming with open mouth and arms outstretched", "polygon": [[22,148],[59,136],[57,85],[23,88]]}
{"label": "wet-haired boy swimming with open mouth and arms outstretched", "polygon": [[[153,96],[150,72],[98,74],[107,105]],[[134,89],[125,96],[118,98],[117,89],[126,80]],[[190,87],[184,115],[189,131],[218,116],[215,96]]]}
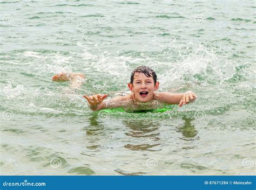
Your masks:
{"label": "wet-haired boy swimming with open mouth and arms outstretched", "polygon": [[[83,74],[75,73],[72,75],[75,75],[72,78],[79,79]],[[179,104],[181,107],[183,104],[191,103],[197,98],[196,94],[191,91],[179,94],[157,93],[156,91],[159,87],[157,75],[147,66],[139,66],[132,71],[128,87],[132,92],[131,94],[114,97],[109,100],[104,100],[107,97],[106,94],[84,95],[84,97],[93,111],[120,107],[129,110],[150,110],[164,104]]]}

